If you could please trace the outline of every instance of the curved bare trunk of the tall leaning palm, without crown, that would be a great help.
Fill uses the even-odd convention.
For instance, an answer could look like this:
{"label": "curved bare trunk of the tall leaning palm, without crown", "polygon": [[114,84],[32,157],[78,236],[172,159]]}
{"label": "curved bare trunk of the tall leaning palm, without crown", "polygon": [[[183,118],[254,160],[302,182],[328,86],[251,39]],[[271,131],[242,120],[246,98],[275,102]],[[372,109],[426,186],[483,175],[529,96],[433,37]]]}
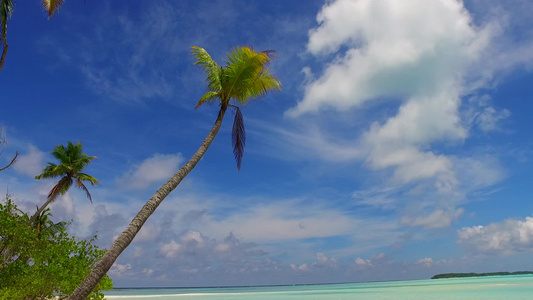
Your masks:
{"label": "curved bare trunk of the tall leaning palm, without crown", "polygon": [[98,282],[104,277],[104,275],[109,271],[109,268],[113,265],[115,260],[118,258],[118,256],[128,247],[128,245],[131,243],[133,238],[137,235],[139,230],[141,230],[141,227],[144,225],[146,220],[152,215],[152,213],[155,211],[155,209],[163,202],[166,196],[170,194],[177,186],[178,184],[189,174],[190,171],[196,166],[196,164],[200,161],[202,156],[204,156],[205,152],[215,139],[215,136],[217,135],[218,131],[220,130],[220,126],[222,125],[222,119],[224,118],[224,114],[226,113],[227,106],[222,105],[220,108],[220,112],[218,114],[217,120],[215,124],[213,125],[213,128],[211,128],[211,131],[205,138],[205,140],[202,142],[202,145],[200,145],[200,148],[196,151],[196,153],[189,159],[189,161],[179,169],[176,174],[172,176],[165,184],[163,184],[157,192],[146,202],[146,204],[143,206],[143,208],[137,213],[137,215],[133,218],[131,223],[126,227],[126,229],[117,237],[117,239],[113,242],[113,245],[105,255],[102,257],[102,259],[96,264],[96,266],[91,270],[91,273],[87,275],[87,277],[83,280],[83,282],[72,292],[70,296],[68,296],[67,300],[84,300],[87,298],[87,296],[91,293],[91,291],[96,287]]}

